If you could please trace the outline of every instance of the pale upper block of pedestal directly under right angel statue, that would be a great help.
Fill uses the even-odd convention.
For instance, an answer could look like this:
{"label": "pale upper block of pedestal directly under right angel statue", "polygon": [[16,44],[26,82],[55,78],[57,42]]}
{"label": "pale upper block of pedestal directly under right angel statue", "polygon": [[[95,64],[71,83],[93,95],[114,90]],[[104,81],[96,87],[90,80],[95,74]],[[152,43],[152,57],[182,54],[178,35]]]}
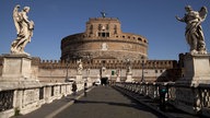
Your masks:
{"label": "pale upper block of pedestal directly under right angel statue", "polygon": [[177,81],[182,84],[198,85],[200,83],[210,84],[210,55],[190,55],[184,56],[183,78]]}

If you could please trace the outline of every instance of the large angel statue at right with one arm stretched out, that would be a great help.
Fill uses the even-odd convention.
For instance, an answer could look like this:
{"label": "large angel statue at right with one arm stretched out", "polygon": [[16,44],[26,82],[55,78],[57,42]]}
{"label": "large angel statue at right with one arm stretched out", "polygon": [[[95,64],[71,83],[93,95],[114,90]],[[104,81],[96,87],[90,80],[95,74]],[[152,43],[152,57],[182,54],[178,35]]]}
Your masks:
{"label": "large angel statue at right with one arm stretched out", "polygon": [[176,20],[187,24],[185,37],[190,46],[190,54],[207,54],[201,22],[205,21],[208,10],[202,7],[200,11],[194,11],[190,5],[185,7],[185,16],[176,16]]}

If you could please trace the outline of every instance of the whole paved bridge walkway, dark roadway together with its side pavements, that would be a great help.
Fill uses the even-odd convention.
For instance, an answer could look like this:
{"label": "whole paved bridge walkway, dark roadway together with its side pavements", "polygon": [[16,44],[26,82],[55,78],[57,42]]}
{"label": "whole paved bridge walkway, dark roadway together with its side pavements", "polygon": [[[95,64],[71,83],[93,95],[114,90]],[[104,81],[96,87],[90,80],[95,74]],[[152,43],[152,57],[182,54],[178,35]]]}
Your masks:
{"label": "whole paved bridge walkway, dark roadway together with its side pavements", "polygon": [[14,118],[197,118],[174,108],[161,111],[159,104],[152,99],[127,93],[119,87],[95,86],[89,91],[86,97],[81,91],[75,96],[69,95]]}

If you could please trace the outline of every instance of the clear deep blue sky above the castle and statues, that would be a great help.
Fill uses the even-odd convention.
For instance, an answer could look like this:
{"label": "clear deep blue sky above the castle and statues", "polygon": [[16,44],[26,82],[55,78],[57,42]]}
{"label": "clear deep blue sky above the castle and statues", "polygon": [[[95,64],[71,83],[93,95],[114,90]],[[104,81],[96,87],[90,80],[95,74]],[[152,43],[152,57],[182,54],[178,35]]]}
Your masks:
{"label": "clear deep blue sky above the castle and statues", "polygon": [[[178,60],[178,54],[188,52],[183,17],[185,7],[199,11],[210,0],[0,0],[0,55],[10,54],[16,38],[12,12],[15,4],[30,7],[28,19],[35,23],[32,42],[25,51],[42,60],[59,60],[60,43],[66,36],[85,32],[90,17],[118,17],[124,33],[142,35],[149,42],[150,60]],[[202,22],[206,47],[210,52],[210,14]]]}

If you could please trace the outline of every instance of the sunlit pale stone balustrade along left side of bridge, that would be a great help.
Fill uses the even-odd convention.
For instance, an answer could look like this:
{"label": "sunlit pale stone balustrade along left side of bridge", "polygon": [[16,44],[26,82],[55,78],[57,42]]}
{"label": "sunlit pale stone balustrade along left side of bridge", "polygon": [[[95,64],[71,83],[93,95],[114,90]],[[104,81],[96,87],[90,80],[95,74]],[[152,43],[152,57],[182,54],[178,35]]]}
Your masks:
{"label": "sunlit pale stone balustrade along left side of bridge", "polygon": [[[72,94],[71,87],[72,83],[47,83],[33,87],[0,90],[0,116],[9,118],[19,114],[25,115],[44,104]],[[78,91],[81,90],[83,83],[78,83]]]}

